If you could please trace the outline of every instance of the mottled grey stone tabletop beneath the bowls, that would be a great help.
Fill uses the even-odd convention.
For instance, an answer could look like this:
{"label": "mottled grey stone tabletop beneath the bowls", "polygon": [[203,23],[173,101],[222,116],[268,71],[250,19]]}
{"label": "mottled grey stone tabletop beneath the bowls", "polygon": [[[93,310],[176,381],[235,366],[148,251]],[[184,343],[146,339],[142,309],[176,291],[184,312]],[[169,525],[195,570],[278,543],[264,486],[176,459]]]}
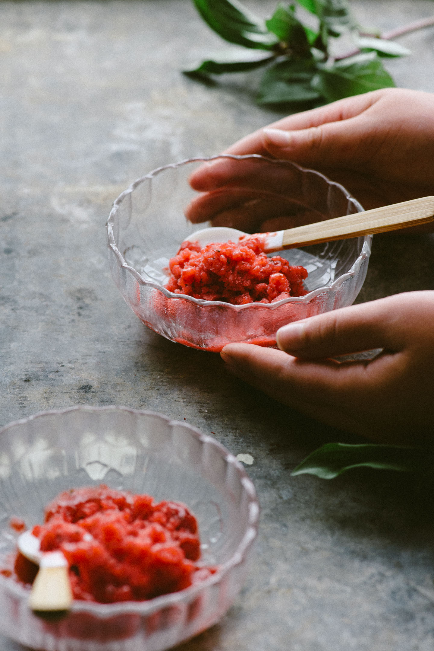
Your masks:
{"label": "mottled grey stone tabletop beneath the bowls", "polygon": [[[432,0],[352,4],[384,30],[434,12]],[[264,15],[274,3],[250,5]],[[400,42],[414,54],[386,62],[397,85],[434,91],[434,29]],[[224,48],[188,0],[0,3],[0,425],[123,404],[253,457],[262,519],[248,583],[179,651],[431,651],[431,495],[392,473],[291,478],[314,447],[357,439],[153,333],[110,277],[104,224],[125,187],[283,115],[253,104],[255,73],[214,87],[180,74]],[[434,289],[433,253],[432,236],[376,236],[357,300]]]}

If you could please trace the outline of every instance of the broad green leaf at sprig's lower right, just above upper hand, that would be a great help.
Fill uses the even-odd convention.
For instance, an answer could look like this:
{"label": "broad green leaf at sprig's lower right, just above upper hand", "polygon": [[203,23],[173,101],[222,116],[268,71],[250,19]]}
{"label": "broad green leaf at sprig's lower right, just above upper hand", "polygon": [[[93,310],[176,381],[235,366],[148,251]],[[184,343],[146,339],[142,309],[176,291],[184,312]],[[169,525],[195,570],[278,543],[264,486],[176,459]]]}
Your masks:
{"label": "broad green leaf at sprig's lower right, just above upper hand", "polygon": [[314,77],[312,85],[327,102],[395,85],[376,52],[347,57],[335,61],[332,66],[318,63],[316,67],[318,75]]}

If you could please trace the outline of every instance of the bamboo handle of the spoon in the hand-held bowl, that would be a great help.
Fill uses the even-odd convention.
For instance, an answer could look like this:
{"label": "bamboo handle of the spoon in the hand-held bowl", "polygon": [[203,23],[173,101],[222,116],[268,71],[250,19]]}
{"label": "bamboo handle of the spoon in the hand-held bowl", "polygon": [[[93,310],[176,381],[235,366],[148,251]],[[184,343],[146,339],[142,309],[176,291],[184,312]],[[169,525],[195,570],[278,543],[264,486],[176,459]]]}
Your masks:
{"label": "bamboo handle of the spoon in the hand-held bowl", "polygon": [[374,210],[325,219],[283,231],[283,249],[357,238],[361,235],[420,226],[434,219],[434,197],[411,199]]}

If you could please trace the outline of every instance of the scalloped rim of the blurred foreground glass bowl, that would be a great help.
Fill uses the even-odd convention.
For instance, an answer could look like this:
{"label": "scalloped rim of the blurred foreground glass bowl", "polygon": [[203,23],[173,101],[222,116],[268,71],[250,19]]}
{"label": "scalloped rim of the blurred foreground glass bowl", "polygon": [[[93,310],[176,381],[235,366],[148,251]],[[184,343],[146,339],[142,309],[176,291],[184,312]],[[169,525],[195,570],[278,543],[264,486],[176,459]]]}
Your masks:
{"label": "scalloped rim of the blurred foreground glass bowl", "polygon": [[[26,424],[27,422],[34,421],[35,419],[42,419],[44,417],[60,415],[64,413],[70,413],[73,411],[88,411],[88,412],[101,412],[101,411],[123,411],[127,413],[133,413],[138,416],[157,416],[167,422],[168,425],[182,425],[190,430],[191,434],[195,436],[201,443],[209,443],[214,446],[222,455],[223,460],[226,464],[231,464],[236,467],[238,473],[240,473],[240,483],[242,484],[245,492],[248,495],[248,525],[242,540],[238,543],[236,550],[233,552],[228,561],[218,565],[218,569],[215,574],[212,574],[207,579],[199,581],[196,585],[191,585],[188,588],[183,590],[178,590],[177,592],[170,592],[168,594],[162,594],[153,599],[144,600],[140,602],[131,601],[131,602],[114,602],[114,603],[99,603],[99,602],[85,602],[81,600],[74,600],[70,613],[92,613],[92,615],[99,616],[101,618],[108,618],[114,615],[121,615],[123,613],[137,613],[138,615],[151,615],[157,610],[160,610],[164,607],[171,605],[176,605],[179,602],[184,602],[188,600],[191,602],[195,596],[197,596],[203,589],[211,587],[216,583],[220,583],[223,577],[231,570],[232,568],[240,565],[245,559],[248,551],[255,540],[258,527],[259,527],[259,514],[260,506],[257,499],[257,493],[255,486],[252,480],[248,477],[244,466],[238,459],[225,448],[220,441],[217,441],[212,436],[203,434],[198,428],[194,425],[191,425],[185,421],[176,421],[170,417],[158,412],[151,411],[149,409],[134,409],[131,407],[125,407],[121,405],[107,405],[107,406],[91,406],[91,405],[77,405],[69,407],[66,409],[49,409],[46,411],[38,411],[28,417],[19,419],[17,421],[12,421],[0,428],[0,436],[5,434],[7,430],[10,430],[16,426]],[[11,577],[5,577],[0,574],[0,586],[12,592],[18,598],[27,598],[29,597],[30,590],[25,588],[23,585],[18,583],[18,581],[11,580]]]}

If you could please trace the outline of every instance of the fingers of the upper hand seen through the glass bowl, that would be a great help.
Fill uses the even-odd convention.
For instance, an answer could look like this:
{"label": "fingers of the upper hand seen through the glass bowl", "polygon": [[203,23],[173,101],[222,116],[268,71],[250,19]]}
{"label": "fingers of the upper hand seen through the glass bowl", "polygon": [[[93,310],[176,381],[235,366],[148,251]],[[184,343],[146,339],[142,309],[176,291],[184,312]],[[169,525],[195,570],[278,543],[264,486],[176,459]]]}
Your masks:
{"label": "fingers of the upper hand seen through the glass bowl", "polygon": [[331,206],[338,211],[335,217],[347,210],[342,191],[333,193],[331,199],[330,185],[324,179],[303,173],[289,161],[261,156],[218,158],[203,167],[207,169],[207,191],[194,197],[185,209],[192,223],[209,219],[212,226],[266,232],[322,221],[324,210],[332,210]]}

